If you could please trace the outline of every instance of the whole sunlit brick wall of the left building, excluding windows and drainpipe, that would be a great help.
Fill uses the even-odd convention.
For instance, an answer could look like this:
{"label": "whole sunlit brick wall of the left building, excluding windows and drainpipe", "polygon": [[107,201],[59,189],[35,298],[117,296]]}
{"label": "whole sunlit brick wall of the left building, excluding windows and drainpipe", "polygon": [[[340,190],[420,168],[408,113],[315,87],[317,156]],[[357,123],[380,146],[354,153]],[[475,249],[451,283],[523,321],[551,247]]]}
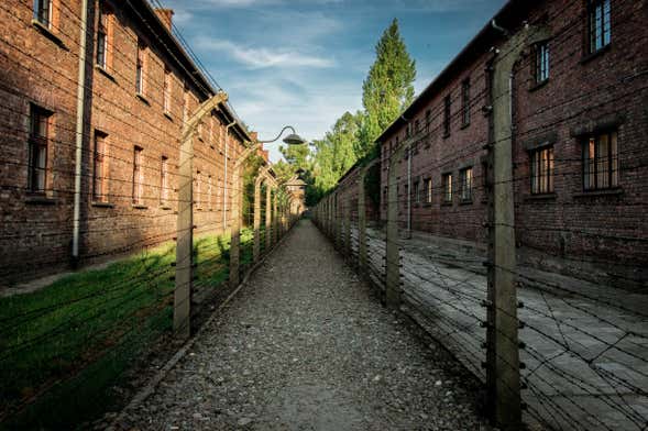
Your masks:
{"label": "whole sunlit brick wall of the left building, excluding windows and drainpipe", "polygon": [[[169,240],[176,233],[179,137],[183,126],[185,81],[188,112],[206,100],[195,84],[161,44],[158,35],[109,3],[108,64],[95,66],[96,3],[90,13],[88,42],[87,120],[84,131],[80,258],[107,258]],[[32,2],[10,1],[0,7],[0,277],[26,278],[69,262],[73,230],[76,97],[79,51],[77,0],[55,0],[52,34],[32,24]],[[57,15],[58,14],[58,15]],[[56,16],[57,15],[57,16]],[[61,23],[61,27],[57,26]],[[143,97],[135,93],[138,38],[146,45]],[[172,71],[171,109],[164,112],[165,65]],[[26,192],[29,103],[54,112],[51,128],[51,191],[37,203]],[[209,124],[212,122],[212,124]],[[229,120],[213,112],[194,139],[194,200],[196,233],[221,232],[226,128]],[[106,134],[108,197],[96,202],[92,194],[97,132]],[[228,140],[228,211],[234,161],[243,135],[231,128]],[[142,148],[143,199],[133,206],[134,147]],[[168,199],[161,201],[162,156],[168,164]],[[211,194],[209,192],[211,177]]]}

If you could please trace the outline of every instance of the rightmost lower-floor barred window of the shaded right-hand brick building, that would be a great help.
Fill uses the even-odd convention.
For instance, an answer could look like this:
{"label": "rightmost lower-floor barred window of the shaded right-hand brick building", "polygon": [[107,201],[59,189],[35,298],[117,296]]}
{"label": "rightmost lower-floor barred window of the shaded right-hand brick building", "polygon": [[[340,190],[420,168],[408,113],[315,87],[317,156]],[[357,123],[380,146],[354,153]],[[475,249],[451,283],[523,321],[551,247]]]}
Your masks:
{"label": "rightmost lower-floor barred window of the shaded right-hand brick building", "polygon": [[585,190],[618,186],[616,132],[587,137],[583,145],[583,187]]}

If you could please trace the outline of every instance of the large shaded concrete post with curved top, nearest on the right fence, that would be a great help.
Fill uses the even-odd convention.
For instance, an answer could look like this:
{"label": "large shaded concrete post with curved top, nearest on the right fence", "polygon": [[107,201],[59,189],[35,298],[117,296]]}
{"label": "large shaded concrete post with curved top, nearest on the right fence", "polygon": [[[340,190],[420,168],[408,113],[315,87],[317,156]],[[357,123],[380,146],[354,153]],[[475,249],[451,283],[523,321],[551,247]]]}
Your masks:
{"label": "large shaded concrete post with curved top, nearest on the right fence", "polygon": [[[488,287],[486,324],[486,390],[491,419],[501,429],[521,424],[517,290],[515,286],[515,207],[513,199],[513,88],[515,63],[528,46],[526,27],[512,35],[490,65],[488,98]],[[539,34],[543,36],[543,34]],[[545,34],[546,35],[546,34]],[[532,38],[532,37],[531,37]]]}

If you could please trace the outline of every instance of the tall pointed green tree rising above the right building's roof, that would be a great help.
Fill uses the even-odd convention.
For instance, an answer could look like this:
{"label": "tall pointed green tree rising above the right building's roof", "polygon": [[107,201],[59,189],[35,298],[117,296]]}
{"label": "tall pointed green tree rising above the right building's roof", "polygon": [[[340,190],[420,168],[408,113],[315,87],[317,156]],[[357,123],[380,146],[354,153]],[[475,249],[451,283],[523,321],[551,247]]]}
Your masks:
{"label": "tall pointed green tree rising above the right building's roof", "polygon": [[355,148],[359,157],[376,155],[375,139],[414,100],[415,79],[415,60],[407,53],[394,19],[376,45],[376,60],[362,84],[365,114]]}

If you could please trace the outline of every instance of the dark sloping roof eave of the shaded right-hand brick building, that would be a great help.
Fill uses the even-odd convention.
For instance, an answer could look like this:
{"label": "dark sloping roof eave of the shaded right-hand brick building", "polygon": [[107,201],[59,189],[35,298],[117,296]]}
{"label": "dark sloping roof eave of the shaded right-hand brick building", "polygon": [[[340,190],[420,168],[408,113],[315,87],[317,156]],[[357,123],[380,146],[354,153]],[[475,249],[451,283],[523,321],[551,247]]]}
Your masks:
{"label": "dark sloping roof eave of the shaded right-hand brick building", "polygon": [[[532,3],[532,2],[529,2]],[[497,42],[502,42],[502,33],[493,27],[491,24],[493,20],[497,25],[505,29],[514,27],[520,21],[520,13],[528,9],[529,4],[525,4],[524,0],[509,0],[499,9],[495,15],[482,27],[482,30],[461,49],[461,52],[446,66],[446,68],[421,91],[420,95],[405,109],[392,124],[389,124],[374,142],[381,142],[385,136],[406,125],[411,120],[410,115],[415,114],[422,106],[430,99],[437,96],[439,90],[443,90],[444,86],[451,81],[457,73],[460,73],[465,63],[484,54],[484,49],[490,49]]]}

